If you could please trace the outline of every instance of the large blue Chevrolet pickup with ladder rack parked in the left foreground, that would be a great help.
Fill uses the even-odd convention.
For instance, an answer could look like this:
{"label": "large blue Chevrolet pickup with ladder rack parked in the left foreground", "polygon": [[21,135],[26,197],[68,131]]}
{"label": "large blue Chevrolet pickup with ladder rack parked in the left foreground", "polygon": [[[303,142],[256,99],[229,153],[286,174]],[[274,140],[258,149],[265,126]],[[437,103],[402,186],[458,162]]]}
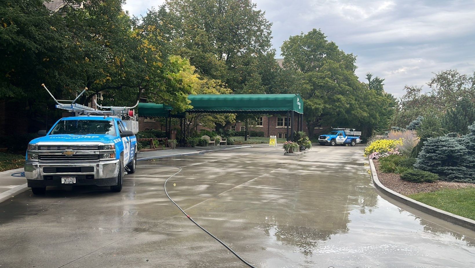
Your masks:
{"label": "large blue Chevrolet pickup with ladder rack parked in the left foreground", "polygon": [[124,173],[135,172],[138,122],[133,108],[137,105],[102,107],[95,102],[108,109],[99,110],[76,104],[79,96],[69,104],[53,97],[57,108],[76,116],[59,119],[28,143],[25,176],[35,195],[44,194],[47,186],[61,185],[110,186],[120,192]]}

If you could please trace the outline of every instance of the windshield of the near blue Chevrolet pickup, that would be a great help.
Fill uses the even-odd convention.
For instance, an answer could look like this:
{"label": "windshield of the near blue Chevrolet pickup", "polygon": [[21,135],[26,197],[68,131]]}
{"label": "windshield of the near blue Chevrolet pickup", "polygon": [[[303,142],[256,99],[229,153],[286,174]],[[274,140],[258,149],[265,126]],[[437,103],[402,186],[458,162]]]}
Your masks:
{"label": "windshield of the near blue Chevrolet pickup", "polygon": [[55,134],[108,134],[115,136],[113,121],[106,120],[61,120],[51,131]]}

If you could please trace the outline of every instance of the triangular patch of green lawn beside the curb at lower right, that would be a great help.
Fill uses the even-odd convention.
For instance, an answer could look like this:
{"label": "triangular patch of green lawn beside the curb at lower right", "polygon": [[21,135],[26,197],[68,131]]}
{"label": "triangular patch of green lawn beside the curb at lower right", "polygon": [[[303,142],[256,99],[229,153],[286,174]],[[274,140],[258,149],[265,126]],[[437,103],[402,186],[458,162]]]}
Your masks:
{"label": "triangular patch of green lawn beside the curb at lower right", "polygon": [[475,187],[443,189],[409,195],[429,206],[475,220]]}

